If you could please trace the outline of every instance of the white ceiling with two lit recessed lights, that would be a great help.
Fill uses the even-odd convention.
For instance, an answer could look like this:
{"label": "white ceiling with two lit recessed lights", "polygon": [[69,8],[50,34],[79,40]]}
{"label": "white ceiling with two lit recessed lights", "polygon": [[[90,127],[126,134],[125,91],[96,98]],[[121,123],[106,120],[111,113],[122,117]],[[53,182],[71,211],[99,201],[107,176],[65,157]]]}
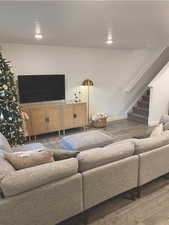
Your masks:
{"label": "white ceiling with two lit recessed lights", "polygon": [[[43,40],[34,38],[39,24]],[[105,44],[108,31],[115,43]],[[0,1],[0,42],[154,48],[169,44],[169,2]]]}

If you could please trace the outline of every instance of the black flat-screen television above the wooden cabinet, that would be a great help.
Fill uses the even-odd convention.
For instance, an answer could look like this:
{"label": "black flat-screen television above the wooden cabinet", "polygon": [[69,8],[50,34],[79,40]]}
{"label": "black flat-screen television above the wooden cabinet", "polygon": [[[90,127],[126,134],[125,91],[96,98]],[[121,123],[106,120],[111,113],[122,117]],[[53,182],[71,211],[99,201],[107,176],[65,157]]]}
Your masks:
{"label": "black flat-screen television above the wooden cabinet", "polygon": [[65,99],[65,75],[18,76],[21,103]]}

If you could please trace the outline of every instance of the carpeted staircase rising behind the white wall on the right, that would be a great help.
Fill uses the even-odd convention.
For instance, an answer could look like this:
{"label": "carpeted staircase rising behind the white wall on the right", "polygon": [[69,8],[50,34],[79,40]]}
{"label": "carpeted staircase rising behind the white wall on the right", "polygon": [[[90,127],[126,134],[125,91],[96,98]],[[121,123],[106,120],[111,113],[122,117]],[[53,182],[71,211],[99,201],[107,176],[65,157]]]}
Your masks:
{"label": "carpeted staircase rising behind the white wall on the right", "polygon": [[150,99],[150,89],[146,90],[144,95],[133,107],[132,112],[128,113],[128,119],[148,124],[149,99]]}

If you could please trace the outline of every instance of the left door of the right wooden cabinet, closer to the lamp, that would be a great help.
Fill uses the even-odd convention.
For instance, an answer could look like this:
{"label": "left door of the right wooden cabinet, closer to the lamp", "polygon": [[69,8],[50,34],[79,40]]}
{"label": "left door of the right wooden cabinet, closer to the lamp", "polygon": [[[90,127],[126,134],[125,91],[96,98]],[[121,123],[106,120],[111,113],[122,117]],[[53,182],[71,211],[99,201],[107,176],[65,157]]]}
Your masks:
{"label": "left door of the right wooden cabinet, closer to the lamp", "polygon": [[73,128],[74,127],[74,119],[73,119],[73,104],[65,104],[63,105],[63,128]]}

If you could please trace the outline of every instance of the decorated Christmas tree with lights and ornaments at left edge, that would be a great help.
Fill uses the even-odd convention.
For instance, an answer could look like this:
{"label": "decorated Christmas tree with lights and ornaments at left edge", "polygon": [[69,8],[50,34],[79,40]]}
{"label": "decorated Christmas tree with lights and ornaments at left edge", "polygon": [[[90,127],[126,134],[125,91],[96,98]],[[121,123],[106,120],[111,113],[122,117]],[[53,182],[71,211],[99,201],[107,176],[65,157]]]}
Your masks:
{"label": "decorated Christmas tree with lights and ornaments at left edge", "polygon": [[11,146],[24,142],[23,119],[10,63],[0,53],[0,132]]}

